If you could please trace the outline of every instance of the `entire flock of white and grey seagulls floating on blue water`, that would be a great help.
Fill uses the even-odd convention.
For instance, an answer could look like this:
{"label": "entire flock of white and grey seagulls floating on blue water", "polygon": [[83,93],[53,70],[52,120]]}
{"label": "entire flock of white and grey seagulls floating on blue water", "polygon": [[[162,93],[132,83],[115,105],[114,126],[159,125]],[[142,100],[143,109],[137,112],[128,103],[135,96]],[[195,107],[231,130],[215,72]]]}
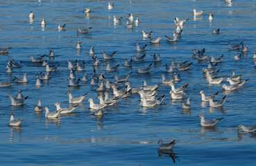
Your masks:
{"label": "entire flock of white and grey seagulls floating on blue water", "polygon": [[[226,3],[231,3],[231,1],[225,1]],[[114,3],[110,4],[108,3],[108,10],[114,9]],[[193,10],[194,15],[203,15],[205,10],[200,10],[197,11],[196,9]],[[88,14],[91,12],[89,8],[85,8],[85,14]],[[31,11],[30,15],[28,16],[30,21],[34,19],[34,14]],[[113,16],[114,18],[114,24],[120,23],[123,19],[123,17],[120,17],[117,19],[116,16]],[[139,19],[136,17],[135,21],[133,22],[133,14],[128,15],[128,19],[126,20],[126,27],[127,28],[133,28],[133,26],[139,24]],[[209,20],[214,19],[214,16],[210,13]],[[185,25],[186,21],[189,21],[189,19],[178,19],[176,17],[174,20],[174,23],[176,25],[175,31],[173,31],[173,36],[168,37],[167,35],[165,36],[168,42],[178,42],[178,39],[182,36],[182,31]],[[41,22],[42,27],[46,26],[46,20],[42,19]],[[65,31],[65,26],[66,24],[63,24],[60,26],[58,25],[58,30],[59,31]],[[92,27],[89,28],[77,28],[77,33],[86,35],[89,33],[89,30],[91,30]],[[213,29],[214,34],[219,34],[220,29]],[[148,39],[148,42],[151,42],[152,44],[159,44],[160,41],[162,40],[162,37],[152,37],[153,31],[150,31],[146,33],[144,30],[142,30],[142,37],[144,39]],[[77,42],[76,44],[76,49],[80,50],[82,49],[81,46],[82,42]],[[144,80],[144,85],[139,86],[139,87],[132,87],[130,82],[128,82],[129,77],[133,74],[131,73],[126,73],[126,75],[119,76],[119,75],[113,75],[112,78],[114,78],[114,82],[110,82],[112,78],[107,78],[104,76],[105,72],[112,72],[112,71],[117,71],[119,70],[119,66],[123,65],[126,67],[131,68],[133,66],[133,63],[135,62],[143,62],[144,58],[146,57],[146,46],[148,44],[145,44],[144,46],[139,46],[139,43],[137,43],[135,46],[135,50],[138,53],[142,53],[143,55],[140,56],[131,56],[133,59],[124,59],[123,64],[112,64],[112,62],[105,62],[107,65],[105,68],[105,71],[101,71],[101,73],[97,73],[94,69],[91,77],[90,84],[92,85],[98,85],[96,88],[96,92],[103,92],[103,95],[99,95],[99,103],[96,103],[95,100],[92,98],[89,98],[87,102],[89,102],[89,108],[94,111],[96,116],[102,116],[103,115],[103,109],[105,107],[109,107],[111,105],[114,105],[118,102],[120,98],[126,98],[128,95],[133,95],[138,93],[139,94],[139,100],[142,101],[142,107],[157,107],[157,105],[160,105],[164,98],[166,98],[166,95],[164,94],[158,94],[157,89],[159,86],[162,85],[167,85],[171,86],[171,89],[169,91],[169,95],[171,95],[171,98],[173,100],[184,100],[189,93],[189,91],[185,91],[187,86],[189,84],[185,84],[184,86],[177,87],[176,82],[180,82],[181,77],[178,72],[182,71],[187,71],[189,70],[189,66],[191,66],[193,63],[187,63],[186,62],[174,62],[171,60],[171,64],[165,64],[165,71],[167,73],[173,73],[174,77],[171,79],[167,79],[164,75],[159,75],[159,77],[162,77],[162,82],[160,84],[155,84],[155,85],[150,85],[146,83],[146,80]],[[248,51],[248,46],[244,45],[243,42],[240,42],[239,44],[232,45],[228,43],[228,46],[230,50],[239,50],[242,53]],[[12,47],[8,48],[0,48],[0,53],[8,53],[8,51]],[[214,55],[209,56],[205,55],[205,48],[202,50],[196,51],[194,49],[194,53],[192,55],[193,59],[198,59],[200,62],[207,62],[207,68],[202,68],[203,69],[203,75],[206,78],[206,82],[208,84],[221,84],[223,80],[226,79],[226,82],[229,82],[230,84],[223,84],[222,89],[223,91],[234,91],[236,89],[239,89],[241,86],[244,86],[246,82],[248,82],[249,79],[246,80],[241,80],[242,75],[235,75],[234,71],[232,72],[232,76],[228,77],[228,75],[223,75],[223,76],[216,76],[219,74],[219,70],[217,70],[218,64],[221,63],[223,58],[225,58],[224,55],[221,55],[220,57],[215,57]],[[49,50],[49,58],[54,58],[54,50]],[[101,52],[103,54],[103,59],[104,60],[109,60],[109,59],[114,59],[114,56],[117,54],[117,51],[114,50],[112,53],[105,53],[105,50]],[[67,68],[69,69],[70,73],[67,75],[67,80],[69,81],[68,86],[79,86],[80,82],[89,82],[87,79],[87,73],[84,73],[83,78],[77,78],[76,77],[76,71],[85,71],[85,66],[99,66],[101,64],[100,60],[98,59],[97,55],[94,53],[94,46],[90,46],[89,50],[89,55],[91,58],[92,63],[88,64],[85,62],[78,62],[77,60],[75,62],[71,62],[69,59],[67,59]],[[35,86],[42,86],[43,82],[42,80],[49,80],[53,79],[53,73],[58,70],[58,67],[60,64],[56,64],[55,66],[49,66],[49,62],[47,62],[46,55],[42,55],[40,57],[34,57],[33,55],[29,55],[28,57],[31,57],[31,62],[32,63],[37,63],[37,64],[42,64],[41,66],[45,68],[45,73],[40,73],[40,76],[36,76],[36,83]],[[160,54],[154,54],[151,55],[152,61],[153,62],[161,62]],[[234,54],[234,60],[239,60],[241,57],[238,57],[237,53]],[[254,52],[253,59],[256,59],[256,53]],[[256,65],[256,61],[254,62]],[[6,73],[11,74],[12,73],[12,68],[21,68],[22,67],[22,61],[16,61],[15,59],[10,59],[8,61],[8,64],[6,65]],[[142,65],[136,67],[137,73],[150,73],[151,68],[153,68],[152,63],[149,65]],[[216,71],[217,70],[217,71]],[[228,78],[226,78],[228,77]],[[12,82],[17,81],[19,83],[26,83],[31,80],[27,79],[27,74],[24,73],[23,77],[16,77],[14,76],[12,80],[8,80],[6,82],[0,82],[0,86],[10,86]],[[123,86],[124,87],[121,87]],[[113,94],[112,98],[109,97],[109,90],[112,89]],[[108,91],[107,91],[108,90]],[[214,100],[216,95],[219,94],[219,91],[212,94],[212,95],[205,95],[203,91],[200,91],[199,93],[201,95],[201,100],[202,102],[209,102],[210,107],[222,107],[223,104],[225,103],[228,98],[226,98],[226,95],[221,98],[221,100]],[[73,107],[67,107],[67,108],[61,108],[60,107],[60,102],[56,102],[53,105],[56,106],[56,111],[49,111],[48,107],[42,107],[42,99],[38,100],[38,104],[35,106],[34,111],[39,112],[39,111],[45,111],[45,118],[59,118],[62,114],[65,113],[72,113],[75,109],[79,107],[79,104],[83,102],[85,97],[87,96],[87,93],[81,96],[76,96],[74,98],[71,95],[71,92],[68,91],[67,95],[69,97],[69,104],[77,104]],[[24,98],[22,95],[22,91],[18,92],[18,95],[16,98],[14,98],[12,95],[8,95],[8,98],[10,98],[10,102],[12,106],[20,106],[23,105],[24,102],[28,99],[28,96]],[[191,109],[193,106],[190,104],[191,98],[187,98],[187,102],[182,102],[182,109]],[[203,127],[210,127],[216,125],[220,120],[223,118],[218,118],[218,119],[213,119],[213,120],[205,120],[205,116],[203,114],[200,114],[198,117],[200,117],[200,125]],[[14,115],[11,114],[10,116],[10,126],[19,126],[22,123],[22,119],[19,118],[18,120],[15,120]],[[237,127],[237,131],[242,130],[244,132],[254,132],[256,131],[256,124],[250,127],[245,127],[244,125],[239,124]],[[163,141],[160,139],[158,140],[159,144],[159,149],[161,150],[170,150],[173,148],[173,145],[176,144],[176,140],[173,140],[170,143],[164,144]]]}

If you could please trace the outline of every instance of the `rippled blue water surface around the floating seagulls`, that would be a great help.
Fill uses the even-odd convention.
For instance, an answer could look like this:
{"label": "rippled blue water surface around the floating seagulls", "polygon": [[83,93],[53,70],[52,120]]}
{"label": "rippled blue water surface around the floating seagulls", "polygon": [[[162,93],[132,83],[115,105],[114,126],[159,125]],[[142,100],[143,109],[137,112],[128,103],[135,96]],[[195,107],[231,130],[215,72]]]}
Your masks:
{"label": "rippled blue water surface around the floating seagulls", "polygon": [[[255,1],[114,1],[113,10],[108,10],[108,1],[1,1],[0,2],[0,46],[12,46],[8,55],[0,55],[0,80],[22,77],[28,74],[27,84],[16,81],[10,87],[0,88],[0,163],[1,165],[254,165],[255,133],[237,133],[237,125],[255,124]],[[89,16],[83,10],[91,9]],[[193,9],[205,10],[203,16],[194,18]],[[29,23],[28,15],[34,12],[35,19]],[[209,12],[214,20],[209,21]],[[126,28],[128,14],[139,17],[139,26]],[[114,26],[113,15],[123,17],[121,24]],[[174,17],[189,18],[182,38],[176,43],[167,42],[164,35],[171,36],[174,31]],[[46,27],[40,23],[46,19]],[[58,24],[67,24],[65,32],[58,32]],[[77,35],[76,28],[89,28],[88,35]],[[212,34],[212,28],[220,28],[219,35]],[[162,37],[160,44],[150,44],[142,39],[142,30],[153,30],[153,38]],[[80,54],[76,42],[82,43]],[[244,42],[249,52],[242,59],[234,61],[234,53],[227,43]],[[123,66],[124,58],[137,55],[135,44],[148,44],[146,58],[143,62],[134,62],[133,68]],[[89,109],[89,98],[96,100],[96,86],[89,81],[77,88],[69,88],[67,77],[67,59],[80,64],[85,61],[85,72],[76,72],[77,77],[87,73],[92,75],[89,46],[94,46],[95,53],[101,61],[97,73],[105,71],[106,65],[101,52],[112,53],[117,50],[112,65],[120,64],[118,71],[105,73],[112,82],[112,75],[126,75],[133,71],[129,82],[132,87],[148,84],[160,84],[161,74],[167,79],[172,75],[166,73],[164,65],[169,60],[176,62],[193,62],[189,71],[179,72],[182,80],[176,86],[189,83],[187,97],[191,98],[191,110],[182,110],[183,100],[171,100],[168,95],[170,86],[161,85],[159,96],[166,95],[161,105],[153,108],[142,107],[139,95],[131,94],[121,98],[117,104],[103,109],[104,116],[96,117]],[[207,84],[202,68],[207,63],[192,59],[192,49],[206,49],[205,55],[220,57],[219,76],[232,75],[232,71],[243,74],[242,80],[250,80],[237,91],[225,92],[220,85]],[[54,60],[50,66],[60,64],[57,72],[52,73],[49,82],[44,82],[37,89],[35,77],[45,69],[40,64],[32,64],[28,55],[35,57],[49,54],[53,49]],[[150,56],[160,53],[162,62],[154,63]],[[237,51],[240,54],[240,51]],[[12,74],[6,74],[8,59],[22,60],[22,68],[13,68]],[[49,59],[49,57],[46,57]],[[136,66],[154,68],[148,74],[138,74]],[[227,83],[227,82],[225,82]],[[7,95],[16,95],[21,89],[28,95],[23,107],[11,107]],[[200,91],[212,94],[219,91],[216,99],[227,95],[223,107],[212,108],[200,101]],[[61,116],[60,120],[47,120],[44,112],[34,112],[38,99],[43,107],[55,111],[55,102],[61,107],[69,107],[68,96],[88,93],[78,109],[70,115]],[[112,91],[110,91],[112,94]],[[9,127],[10,114],[22,118],[21,127]],[[200,127],[203,113],[206,119],[224,117],[216,127]],[[164,142],[176,140],[173,151],[161,154],[157,140]]]}

